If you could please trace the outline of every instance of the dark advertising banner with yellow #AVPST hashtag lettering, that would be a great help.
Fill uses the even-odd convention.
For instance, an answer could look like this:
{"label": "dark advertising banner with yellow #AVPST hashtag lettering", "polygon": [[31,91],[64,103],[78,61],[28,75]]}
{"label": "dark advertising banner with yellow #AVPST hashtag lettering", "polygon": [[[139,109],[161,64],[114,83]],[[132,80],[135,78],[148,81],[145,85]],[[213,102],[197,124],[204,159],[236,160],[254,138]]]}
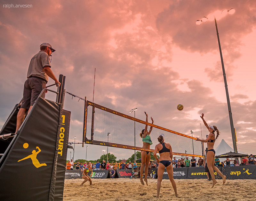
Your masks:
{"label": "dark advertising banner with yellow #AVPST hashtag lettering", "polygon": [[[221,167],[217,167],[221,171]],[[190,167],[188,169],[187,179],[207,179],[204,167]],[[214,171],[215,179],[222,179],[221,176]]]}

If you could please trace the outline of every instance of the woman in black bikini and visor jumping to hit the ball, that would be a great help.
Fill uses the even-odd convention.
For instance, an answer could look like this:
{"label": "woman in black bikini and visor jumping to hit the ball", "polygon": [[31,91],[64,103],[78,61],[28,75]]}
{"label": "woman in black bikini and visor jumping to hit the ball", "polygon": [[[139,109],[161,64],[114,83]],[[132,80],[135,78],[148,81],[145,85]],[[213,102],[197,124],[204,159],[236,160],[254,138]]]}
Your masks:
{"label": "woman in black bikini and visor jumping to hit the ball", "polygon": [[[202,116],[200,116],[200,117],[202,118],[202,120],[204,122],[204,126],[206,126],[206,128],[208,129],[210,134],[208,135],[208,137],[205,140],[196,138],[196,141],[207,142],[208,151],[206,154],[206,160],[207,160],[207,167],[212,176],[212,187],[213,187],[217,183],[213,170],[215,170],[222,177],[223,184],[226,182],[226,176],[223,175],[216,166],[214,166],[215,150],[213,149],[213,146],[214,146],[214,142],[218,138],[220,132],[216,126],[208,126],[208,124],[204,120],[204,113],[202,113]],[[215,138],[215,134],[214,134],[215,131],[217,133],[216,138]]]}

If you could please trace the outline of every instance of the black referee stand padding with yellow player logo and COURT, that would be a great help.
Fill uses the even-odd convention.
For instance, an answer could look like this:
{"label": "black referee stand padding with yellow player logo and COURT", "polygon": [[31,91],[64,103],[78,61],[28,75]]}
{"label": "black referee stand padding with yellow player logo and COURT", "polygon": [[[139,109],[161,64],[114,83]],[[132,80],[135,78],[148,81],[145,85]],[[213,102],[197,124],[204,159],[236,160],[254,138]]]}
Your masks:
{"label": "black referee stand padding with yellow player logo and COURT", "polygon": [[0,200],[63,199],[70,112],[62,106],[38,97],[20,132],[12,134],[0,159]]}

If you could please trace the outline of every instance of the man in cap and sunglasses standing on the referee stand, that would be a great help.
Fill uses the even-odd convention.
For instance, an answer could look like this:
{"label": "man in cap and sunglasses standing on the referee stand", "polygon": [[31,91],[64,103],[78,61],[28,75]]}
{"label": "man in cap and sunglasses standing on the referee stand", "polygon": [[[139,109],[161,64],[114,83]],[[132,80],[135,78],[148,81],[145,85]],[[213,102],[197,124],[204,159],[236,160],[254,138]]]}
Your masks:
{"label": "man in cap and sunglasses standing on the referee stand", "polygon": [[[51,77],[56,84],[60,84],[51,70],[49,57],[53,52],[55,52],[55,49],[53,49],[49,43],[42,43],[40,45],[40,51],[32,57],[29,63],[27,80],[23,90],[23,100],[17,115],[15,133],[19,130],[24,121],[27,111],[29,112],[31,110],[41,91],[46,88],[48,76]],[[45,92],[42,97],[45,97]]]}

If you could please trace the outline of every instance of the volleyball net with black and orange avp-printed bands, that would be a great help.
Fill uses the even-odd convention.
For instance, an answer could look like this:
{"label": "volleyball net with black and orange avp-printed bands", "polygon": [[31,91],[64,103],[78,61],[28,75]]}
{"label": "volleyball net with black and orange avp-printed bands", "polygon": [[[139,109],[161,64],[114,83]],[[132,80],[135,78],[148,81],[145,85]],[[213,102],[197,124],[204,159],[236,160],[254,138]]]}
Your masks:
{"label": "volleyball net with black and orange avp-printed bands", "polygon": [[[151,121],[151,120],[150,120]],[[153,144],[143,148],[141,130],[153,126]],[[203,157],[203,143],[196,138],[157,126],[85,100],[83,143],[154,152],[157,138],[163,133],[174,155]],[[193,143],[192,143],[193,141]]]}

